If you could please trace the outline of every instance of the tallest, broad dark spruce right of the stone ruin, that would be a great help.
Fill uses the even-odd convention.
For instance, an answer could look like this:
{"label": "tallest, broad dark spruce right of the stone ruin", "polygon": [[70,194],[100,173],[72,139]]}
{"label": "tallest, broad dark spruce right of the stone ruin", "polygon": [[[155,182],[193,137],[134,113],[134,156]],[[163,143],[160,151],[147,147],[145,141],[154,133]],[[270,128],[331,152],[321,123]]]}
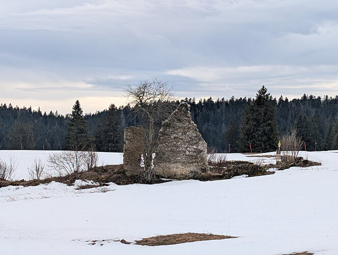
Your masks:
{"label": "tallest, broad dark spruce right of the stone ruin", "polygon": [[256,93],[252,104],[248,104],[241,118],[240,149],[266,152],[275,150],[278,142],[276,100],[264,86]]}

